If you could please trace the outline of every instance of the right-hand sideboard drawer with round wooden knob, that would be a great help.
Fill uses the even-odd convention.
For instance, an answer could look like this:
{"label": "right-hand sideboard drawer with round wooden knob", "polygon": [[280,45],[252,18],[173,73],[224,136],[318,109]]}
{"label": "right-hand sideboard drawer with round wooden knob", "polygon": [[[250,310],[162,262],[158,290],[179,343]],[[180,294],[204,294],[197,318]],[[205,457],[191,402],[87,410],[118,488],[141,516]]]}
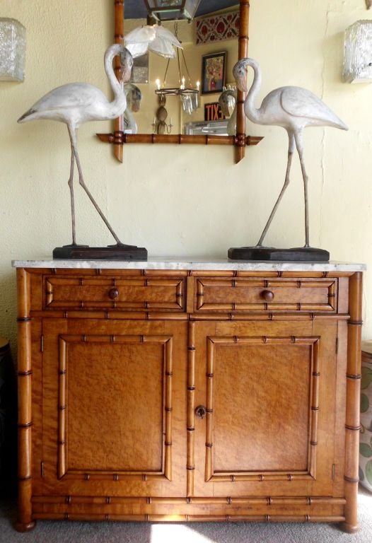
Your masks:
{"label": "right-hand sideboard drawer with round wooden knob", "polygon": [[194,310],[337,311],[337,279],[195,279]]}

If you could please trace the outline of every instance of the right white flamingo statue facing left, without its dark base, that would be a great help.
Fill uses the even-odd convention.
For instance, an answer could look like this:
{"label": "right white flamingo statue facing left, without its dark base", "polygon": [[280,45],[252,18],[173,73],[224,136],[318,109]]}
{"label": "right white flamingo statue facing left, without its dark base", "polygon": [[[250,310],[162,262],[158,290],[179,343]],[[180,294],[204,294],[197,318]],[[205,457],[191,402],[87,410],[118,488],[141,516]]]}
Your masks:
{"label": "right white flamingo statue facing left, without its dark base", "polygon": [[253,59],[242,59],[233,68],[233,76],[236,79],[238,89],[247,92],[247,69],[251,66],[254,71],[252,86],[244,103],[245,115],[256,124],[269,124],[286,129],[289,136],[288,162],[284,186],[281,189],[277,202],[269,216],[269,220],[261,234],[257,247],[262,246],[267,230],[274,218],[283,197],[286,187],[289,185],[289,173],[293,151],[296,145],[301,163],[303,177],[303,191],[305,196],[305,247],[309,245],[309,221],[308,221],[308,175],[303,160],[303,129],[306,127],[335,127],[347,130],[346,124],[333,113],[325,103],[315,94],[300,87],[281,87],[269,93],[263,100],[260,109],[255,107],[255,98],[261,86],[260,65]]}

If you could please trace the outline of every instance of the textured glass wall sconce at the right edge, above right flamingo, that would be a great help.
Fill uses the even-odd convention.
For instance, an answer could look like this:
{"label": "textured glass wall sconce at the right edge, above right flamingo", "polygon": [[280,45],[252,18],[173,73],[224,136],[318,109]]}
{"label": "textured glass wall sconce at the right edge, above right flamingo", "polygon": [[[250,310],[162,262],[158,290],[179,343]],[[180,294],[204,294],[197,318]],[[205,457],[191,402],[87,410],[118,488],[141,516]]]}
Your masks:
{"label": "textured glass wall sconce at the right edge, above right flamingo", "polygon": [[342,76],[348,83],[372,81],[372,21],[356,21],[345,30]]}

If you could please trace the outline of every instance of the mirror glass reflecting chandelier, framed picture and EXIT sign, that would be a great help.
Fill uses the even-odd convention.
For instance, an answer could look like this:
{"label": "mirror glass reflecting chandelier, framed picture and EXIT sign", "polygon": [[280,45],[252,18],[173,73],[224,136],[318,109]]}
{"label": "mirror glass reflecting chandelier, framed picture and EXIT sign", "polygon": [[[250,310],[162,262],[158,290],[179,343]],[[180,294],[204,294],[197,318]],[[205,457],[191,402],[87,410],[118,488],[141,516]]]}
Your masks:
{"label": "mirror glass reflecting chandelier, framed picture and EXIT sign", "polygon": [[[144,1],[126,0],[124,13],[125,35],[147,23]],[[238,14],[238,0],[201,0],[190,23],[161,23],[182,49],[175,59],[152,52],[136,59],[127,134],[236,134]]]}

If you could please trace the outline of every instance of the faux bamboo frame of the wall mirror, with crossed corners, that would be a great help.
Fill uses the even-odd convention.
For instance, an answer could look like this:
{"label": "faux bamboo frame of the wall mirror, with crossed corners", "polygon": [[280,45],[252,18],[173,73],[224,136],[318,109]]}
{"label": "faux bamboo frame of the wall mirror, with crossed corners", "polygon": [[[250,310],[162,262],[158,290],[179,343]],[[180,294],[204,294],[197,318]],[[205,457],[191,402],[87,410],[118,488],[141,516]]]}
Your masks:
{"label": "faux bamboo frame of the wall mirror, with crossed corners", "polygon": [[[238,37],[238,59],[248,57],[248,29],[249,29],[249,0],[240,0],[240,29]],[[124,0],[114,0],[115,15],[115,43],[124,42]],[[122,80],[120,59],[115,59],[115,73],[119,81]],[[245,94],[238,91],[236,135],[185,135],[185,134],[125,134],[123,132],[122,117],[114,121],[114,132],[111,134],[97,134],[101,141],[114,145],[114,154],[117,160],[123,161],[124,144],[202,144],[202,145],[230,145],[235,147],[235,161],[238,163],[245,156],[246,145],[257,145],[262,138],[245,135],[245,115],[243,110]]]}

